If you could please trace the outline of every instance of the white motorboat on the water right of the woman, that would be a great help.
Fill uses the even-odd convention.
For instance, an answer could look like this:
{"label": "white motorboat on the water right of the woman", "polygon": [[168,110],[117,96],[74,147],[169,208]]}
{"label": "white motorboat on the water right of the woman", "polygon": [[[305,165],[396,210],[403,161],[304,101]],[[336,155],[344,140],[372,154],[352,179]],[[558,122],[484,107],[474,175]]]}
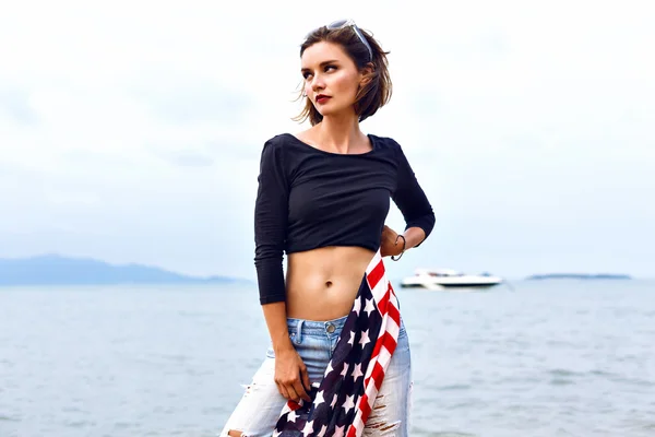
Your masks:
{"label": "white motorboat on the water right of the woman", "polygon": [[414,276],[407,276],[401,282],[405,288],[480,288],[490,287],[503,282],[502,277],[481,274],[465,274],[450,269],[428,270],[416,269]]}

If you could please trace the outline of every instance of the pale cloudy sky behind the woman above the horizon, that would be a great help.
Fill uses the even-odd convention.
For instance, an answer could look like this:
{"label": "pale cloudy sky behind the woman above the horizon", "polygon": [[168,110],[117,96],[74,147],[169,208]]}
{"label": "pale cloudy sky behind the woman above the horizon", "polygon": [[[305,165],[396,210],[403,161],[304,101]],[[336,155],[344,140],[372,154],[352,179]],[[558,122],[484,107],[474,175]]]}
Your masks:
{"label": "pale cloudy sky behind the woman above the horizon", "polygon": [[398,141],[437,216],[391,274],[655,277],[646,0],[10,2],[0,257],[254,279],[261,149],[309,127],[299,46],[343,17],[390,51],[361,129]]}

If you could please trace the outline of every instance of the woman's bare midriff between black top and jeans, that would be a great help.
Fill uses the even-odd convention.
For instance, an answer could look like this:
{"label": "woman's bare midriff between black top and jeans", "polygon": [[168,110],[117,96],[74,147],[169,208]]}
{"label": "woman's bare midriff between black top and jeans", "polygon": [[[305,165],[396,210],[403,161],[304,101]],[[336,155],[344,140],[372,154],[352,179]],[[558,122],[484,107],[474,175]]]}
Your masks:
{"label": "woman's bare midriff between black top and jeans", "polygon": [[287,317],[326,321],[347,316],[376,253],[331,246],[288,256]]}

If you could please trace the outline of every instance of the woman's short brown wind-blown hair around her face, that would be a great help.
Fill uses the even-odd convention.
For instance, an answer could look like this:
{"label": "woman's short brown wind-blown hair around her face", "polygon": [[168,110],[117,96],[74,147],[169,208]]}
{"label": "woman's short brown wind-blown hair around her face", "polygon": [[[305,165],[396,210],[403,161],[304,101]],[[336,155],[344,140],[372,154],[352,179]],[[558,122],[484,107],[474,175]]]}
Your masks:
{"label": "woman's short brown wind-blown hair around her face", "polygon": [[[380,44],[373,39],[372,34],[364,31],[361,27],[358,28],[371,47],[373,52],[372,59],[370,59],[368,48],[359,39],[352,26],[338,29],[329,29],[326,26],[317,28],[307,36],[305,43],[300,46],[300,57],[312,45],[326,42],[341,45],[360,71],[367,66],[370,67],[369,62],[372,62],[372,71],[367,74],[370,80],[359,88],[355,99],[355,113],[359,116],[359,121],[364,121],[389,103],[392,85],[389,74],[389,62],[386,60],[386,55],[390,52],[382,50]],[[300,87],[303,88],[303,84],[300,84]],[[298,98],[303,97],[306,99],[305,108],[293,120],[302,122],[309,118],[311,126],[318,125],[323,120],[323,116],[314,108],[312,102],[309,97],[305,96],[303,90],[301,90]]]}

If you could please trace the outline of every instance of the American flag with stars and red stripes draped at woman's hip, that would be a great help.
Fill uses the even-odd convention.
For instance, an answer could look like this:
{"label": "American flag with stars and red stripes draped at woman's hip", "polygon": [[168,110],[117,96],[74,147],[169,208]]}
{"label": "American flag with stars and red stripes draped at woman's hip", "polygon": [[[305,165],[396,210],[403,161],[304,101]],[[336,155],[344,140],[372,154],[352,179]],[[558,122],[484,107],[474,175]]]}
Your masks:
{"label": "American flag with stars and red stripes draped at woman's hip", "polygon": [[353,309],[312,402],[288,401],[273,437],[359,437],[395,351],[398,303],[380,251],[369,263]]}

